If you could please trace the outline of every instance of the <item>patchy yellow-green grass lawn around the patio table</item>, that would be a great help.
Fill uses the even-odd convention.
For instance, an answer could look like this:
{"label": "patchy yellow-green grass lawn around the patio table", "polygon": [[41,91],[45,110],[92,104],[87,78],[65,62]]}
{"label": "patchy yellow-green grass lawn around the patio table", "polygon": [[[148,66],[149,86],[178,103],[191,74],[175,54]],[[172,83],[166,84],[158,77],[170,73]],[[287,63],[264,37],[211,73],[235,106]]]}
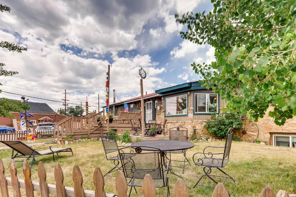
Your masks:
{"label": "patchy yellow-green grass lawn around the patio table", "polygon": [[[36,140],[36,143],[39,141]],[[223,146],[224,142],[197,142],[195,146],[187,151],[187,158],[191,166],[185,168],[184,174],[179,168],[174,171],[181,175],[189,189],[190,196],[211,196],[213,189],[197,186],[193,188],[197,180],[203,175],[203,167],[193,165],[192,155],[195,152],[202,152],[206,146]],[[47,145],[44,145],[47,146]],[[103,174],[112,168],[113,162],[107,161],[101,141],[80,142],[68,145],[52,145],[53,147],[71,147],[74,156],[71,153],[61,153],[56,157],[56,162],[52,156],[37,157],[32,167],[32,180],[38,181],[37,165],[39,161],[44,163],[47,172],[47,182],[55,184],[54,165],[59,163],[64,172],[65,186],[73,187],[72,170],[74,165],[78,165],[83,175],[84,189],[94,190],[93,173],[95,167],[100,167]],[[34,148],[42,146],[34,146]],[[178,155],[178,156],[177,156]],[[11,156],[11,149],[0,150],[0,158],[6,167],[6,176],[10,177],[8,165]],[[183,158],[182,154],[175,154],[173,159]],[[258,196],[262,188],[271,187],[275,193],[280,189],[289,193],[296,193],[296,149],[286,147],[274,147],[246,142],[233,142],[231,146],[230,161],[223,170],[231,175],[237,184],[228,179],[225,183],[226,189],[231,196]],[[30,162],[30,161],[29,161]],[[18,177],[23,179],[22,163],[16,163]],[[218,170],[213,170],[217,173]],[[169,186],[171,196],[173,187],[177,181],[176,176],[169,174]],[[205,184],[210,182],[205,181]],[[12,188],[9,187],[12,192]],[[116,193],[115,177],[105,178],[105,191]],[[141,196],[141,188],[137,189],[138,196]],[[166,196],[166,188],[157,188],[157,196]],[[22,195],[25,196],[24,189],[21,189]],[[12,195],[12,193],[11,193]],[[36,192],[35,196],[40,196]],[[132,196],[137,196],[133,191]]]}

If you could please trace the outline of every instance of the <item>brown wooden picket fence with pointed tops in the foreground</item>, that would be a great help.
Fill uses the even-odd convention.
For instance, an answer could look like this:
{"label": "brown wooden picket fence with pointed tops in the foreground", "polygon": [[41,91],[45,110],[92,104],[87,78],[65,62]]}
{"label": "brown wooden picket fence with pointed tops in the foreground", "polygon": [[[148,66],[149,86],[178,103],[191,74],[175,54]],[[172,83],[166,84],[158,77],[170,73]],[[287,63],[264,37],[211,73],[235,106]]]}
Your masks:
{"label": "brown wooden picket fence with pointed tops in the foreground", "polygon": [[[40,192],[41,197],[49,197],[49,194],[56,195],[57,197],[126,197],[128,191],[128,185],[123,172],[118,170],[115,179],[115,186],[118,194],[106,193],[104,191],[104,178],[99,167],[95,168],[94,171],[94,186],[95,191],[83,189],[83,177],[78,166],[74,166],[72,178],[74,182],[74,188],[66,187],[64,185],[64,174],[59,164],[54,167],[54,179],[56,185],[48,184],[46,182],[46,170],[42,162],[38,164],[38,177],[39,182],[31,180],[31,169],[28,162],[24,162],[23,165],[24,180],[17,178],[17,168],[13,159],[9,163],[9,172],[11,177],[5,176],[4,164],[0,159],[0,188],[3,197],[9,197],[8,187],[11,186],[13,189],[14,197],[21,197],[20,188],[24,188],[27,197],[34,197],[34,191]],[[145,175],[142,194],[144,197],[155,197],[156,188],[152,177],[147,174]],[[189,191],[184,181],[179,178],[174,187],[173,197],[189,197]],[[215,187],[212,197],[229,197],[229,193],[224,187],[223,183],[218,183]],[[274,191],[265,187],[262,189],[259,197],[276,197]]]}

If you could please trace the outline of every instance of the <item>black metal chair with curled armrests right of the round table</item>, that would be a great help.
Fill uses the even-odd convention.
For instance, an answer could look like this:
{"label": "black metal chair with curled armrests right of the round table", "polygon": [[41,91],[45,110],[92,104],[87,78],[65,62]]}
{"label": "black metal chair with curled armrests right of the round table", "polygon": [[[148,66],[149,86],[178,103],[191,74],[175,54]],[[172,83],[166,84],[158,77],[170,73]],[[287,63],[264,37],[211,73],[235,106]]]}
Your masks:
{"label": "black metal chair with curled armrests right of the round table", "polygon": [[[225,146],[220,146],[220,147],[207,146],[207,147],[205,147],[205,149],[204,149],[204,151],[202,153],[201,152],[195,153],[195,154],[203,154],[203,156],[204,156],[203,158],[199,158],[197,160],[197,162],[194,161],[194,155],[195,154],[193,155],[192,158],[193,158],[193,162],[194,162],[195,165],[205,166],[204,169],[203,169],[203,171],[205,172],[205,175],[202,175],[202,177],[200,178],[200,180],[197,181],[197,183],[194,185],[194,187],[196,185],[200,185],[199,183],[204,177],[210,178],[210,180],[212,180],[216,184],[218,182],[216,180],[214,180],[213,177],[225,178],[223,184],[225,183],[225,181],[228,178],[231,178],[233,180],[233,182],[236,183],[235,180],[231,176],[229,176],[226,172],[221,170],[221,168],[225,167],[226,164],[229,161],[229,153],[230,153],[230,148],[231,148],[232,135],[233,135],[233,128],[230,128],[227,131],[227,134],[226,134]],[[205,152],[205,150],[207,148],[209,148],[209,147],[211,147],[211,148],[224,148],[224,152],[223,153]],[[213,158],[213,156],[218,156],[218,155],[222,155],[223,157],[222,158],[217,158],[217,157]],[[217,168],[218,170],[220,170],[225,176],[210,175],[210,173],[212,172],[212,167]],[[208,168],[208,170],[206,168]],[[213,187],[206,186],[206,185],[200,185],[200,186],[213,188]]]}

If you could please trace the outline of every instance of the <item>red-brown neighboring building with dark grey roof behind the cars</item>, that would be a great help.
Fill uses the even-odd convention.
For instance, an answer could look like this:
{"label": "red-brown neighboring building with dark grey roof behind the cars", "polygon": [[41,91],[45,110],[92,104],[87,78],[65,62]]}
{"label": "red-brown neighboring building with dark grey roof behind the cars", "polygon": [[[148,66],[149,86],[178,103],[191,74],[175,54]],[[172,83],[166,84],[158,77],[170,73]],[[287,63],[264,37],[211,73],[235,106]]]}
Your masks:
{"label": "red-brown neighboring building with dark grey roof behind the cars", "polygon": [[[13,100],[16,101],[16,100]],[[56,114],[52,108],[49,107],[46,103],[41,102],[30,102],[28,101],[28,105],[31,107],[28,111],[30,114],[34,115],[34,117],[28,118],[33,124],[45,122],[47,118],[54,119],[55,122],[59,122],[62,119],[64,119],[65,115]],[[15,119],[11,119],[9,117],[3,117],[0,116],[0,125],[6,125],[6,126],[12,126],[17,127],[15,128],[17,131],[20,130],[20,122],[24,121],[20,119],[20,113],[19,112],[12,112],[12,114],[15,116]],[[15,120],[15,123],[14,123]]]}

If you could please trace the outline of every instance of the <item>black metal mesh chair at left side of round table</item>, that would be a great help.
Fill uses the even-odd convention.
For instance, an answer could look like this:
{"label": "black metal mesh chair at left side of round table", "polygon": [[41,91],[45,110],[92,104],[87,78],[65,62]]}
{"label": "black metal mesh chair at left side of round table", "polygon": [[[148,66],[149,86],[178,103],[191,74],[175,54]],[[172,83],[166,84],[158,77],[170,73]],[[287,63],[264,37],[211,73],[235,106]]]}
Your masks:
{"label": "black metal mesh chair at left side of round table", "polygon": [[[103,136],[103,135],[106,135],[106,136]],[[107,172],[104,175],[104,177],[105,176],[114,176],[114,175],[107,175],[107,174],[115,172],[115,171],[117,171],[117,170],[119,170],[121,168],[121,167],[118,167],[119,160],[120,160],[118,155],[115,156],[115,157],[111,156],[112,153],[114,153],[114,152],[117,153],[118,152],[118,146],[117,146],[115,135],[114,135],[114,133],[110,133],[110,132],[102,133],[101,134],[101,140],[102,140],[102,143],[103,143],[103,146],[104,146],[106,159],[113,161],[113,163],[115,165],[115,167],[113,167],[111,170],[109,170],[109,172]]]}

